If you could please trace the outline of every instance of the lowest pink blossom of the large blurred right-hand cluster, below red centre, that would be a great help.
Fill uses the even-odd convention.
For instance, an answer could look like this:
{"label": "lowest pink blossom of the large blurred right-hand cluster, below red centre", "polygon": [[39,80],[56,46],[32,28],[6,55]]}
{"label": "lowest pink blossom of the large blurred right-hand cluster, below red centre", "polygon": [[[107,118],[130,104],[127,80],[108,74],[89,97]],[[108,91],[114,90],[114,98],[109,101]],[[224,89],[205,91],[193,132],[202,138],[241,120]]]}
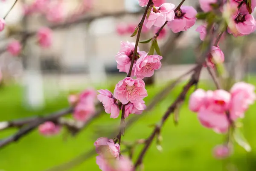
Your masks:
{"label": "lowest pink blossom of the large blurred right-hand cluster, below red centre", "polygon": [[227,132],[229,122],[226,113],[215,112],[212,107],[201,107],[198,113],[199,121],[204,127],[213,129],[218,133]]}

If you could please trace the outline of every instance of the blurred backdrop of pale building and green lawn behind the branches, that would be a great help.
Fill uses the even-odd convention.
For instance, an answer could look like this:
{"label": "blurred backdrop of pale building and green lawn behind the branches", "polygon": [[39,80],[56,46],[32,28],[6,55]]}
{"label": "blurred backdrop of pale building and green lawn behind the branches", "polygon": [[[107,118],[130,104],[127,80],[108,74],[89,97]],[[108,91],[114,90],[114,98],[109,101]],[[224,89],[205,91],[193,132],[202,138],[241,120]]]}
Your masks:
{"label": "blurred backdrop of pale building and green lawn behind the branches", "polygon": [[[40,2],[41,1],[41,2]],[[38,4],[45,0],[18,0],[6,17],[6,29],[0,32],[0,121],[34,115],[45,115],[68,107],[67,96],[87,87],[108,88],[125,77],[116,69],[115,55],[121,41],[131,38],[139,23],[143,8],[138,0],[48,0],[47,8]],[[4,17],[15,0],[0,1],[0,17]],[[166,0],[176,6],[180,0]],[[186,0],[184,5],[194,6],[198,12],[198,0]],[[43,6],[43,5],[42,5]],[[253,14],[254,15],[254,14]],[[201,42],[195,29],[198,20],[186,32],[174,34],[166,27],[159,40],[162,52],[162,68],[147,84],[148,104],[170,81],[195,65],[197,47]],[[53,30],[50,48],[38,46],[36,32],[42,26]],[[157,28],[143,29],[141,40],[151,38]],[[22,44],[19,56],[6,51],[9,42]],[[139,44],[148,51],[148,44]],[[255,34],[233,38],[228,34],[221,41],[225,55],[224,85],[227,90],[234,81],[256,84]],[[184,81],[189,78],[185,77]],[[228,81],[227,81],[228,80]],[[126,130],[124,141],[133,142],[146,138],[182,89],[181,84],[167,94],[153,110],[146,113]],[[207,70],[201,73],[199,87],[214,89]],[[191,92],[190,92],[191,93]],[[243,131],[252,146],[247,153],[236,146],[229,159],[212,157],[212,148],[221,144],[223,135],[203,128],[197,116],[188,110],[187,102],[180,109],[177,126],[172,117],[163,129],[163,151],[151,145],[144,159],[145,171],[255,171],[256,170],[256,106],[250,106],[243,120]],[[103,113],[75,137],[67,130],[50,138],[41,136],[37,130],[0,149],[0,171],[98,171],[95,156],[88,158],[87,151],[94,149],[93,142],[111,128],[119,119],[109,119]],[[15,133],[17,129],[0,132],[0,138]],[[135,158],[142,146],[136,148]],[[65,165],[63,165],[65,164]],[[61,165],[61,167],[56,167]]]}

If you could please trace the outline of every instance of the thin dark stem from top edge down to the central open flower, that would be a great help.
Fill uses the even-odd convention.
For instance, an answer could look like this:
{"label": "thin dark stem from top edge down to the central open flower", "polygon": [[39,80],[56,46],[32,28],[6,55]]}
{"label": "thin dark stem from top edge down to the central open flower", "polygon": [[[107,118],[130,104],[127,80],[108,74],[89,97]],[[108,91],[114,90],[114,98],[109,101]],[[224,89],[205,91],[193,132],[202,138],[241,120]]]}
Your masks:
{"label": "thin dark stem from top edge down to the central open flower", "polygon": [[133,53],[132,59],[131,59],[130,70],[129,70],[129,72],[128,72],[127,77],[131,77],[131,71],[132,71],[132,67],[133,67],[133,64],[134,64],[135,56],[137,55],[137,49],[138,49],[138,45],[139,45],[139,41],[140,41],[140,33],[141,33],[141,30],[142,30],[142,27],[143,27],[143,23],[144,23],[144,21],[145,21],[145,18],[146,18],[146,16],[147,16],[148,9],[149,9],[149,7],[151,6],[152,3],[153,3],[152,0],[149,0],[149,1],[148,1],[148,5],[147,5],[147,7],[146,7],[146,9],[145,9],[145,12],[144,12],[144,14],[143,14],[143,17],[142,17],[142,19],[141,19],[141,21],[140,21],[140,23],[139,23],[139,25],[138,25],[138,27],[139,27],[138,35],[137,35],[137,39],[136,39],[136,43],[135,43],[135,47],[134,47],[134,53]]}

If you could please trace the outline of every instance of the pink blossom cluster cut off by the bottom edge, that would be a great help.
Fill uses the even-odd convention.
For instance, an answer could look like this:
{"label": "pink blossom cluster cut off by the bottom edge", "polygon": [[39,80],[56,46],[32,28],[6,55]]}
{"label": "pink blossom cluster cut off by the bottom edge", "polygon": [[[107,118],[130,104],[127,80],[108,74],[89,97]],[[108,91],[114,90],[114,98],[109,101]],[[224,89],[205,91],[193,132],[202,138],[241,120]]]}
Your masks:
{"label": "pink blossom cluster cut off by the bottom edge", "polygon": [[132,171],[133,164],[130,159],[120,155],[120,145],[115,144],[113,139],[102,137],[94,142],[96,163],[102,171]]}

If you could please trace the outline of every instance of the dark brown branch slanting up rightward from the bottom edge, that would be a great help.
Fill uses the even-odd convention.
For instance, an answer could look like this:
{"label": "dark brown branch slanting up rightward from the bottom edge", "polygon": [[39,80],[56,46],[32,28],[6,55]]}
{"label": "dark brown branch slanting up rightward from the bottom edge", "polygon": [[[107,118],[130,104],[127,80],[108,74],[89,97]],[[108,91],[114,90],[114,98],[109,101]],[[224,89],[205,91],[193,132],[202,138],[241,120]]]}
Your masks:
{"label": "dark brown branch slanting up rightward from the bottom edge", "polygon": [[151,135],[148,137],[148,139],[145,142],[145,146],[143,148],[143,150],[141,151],[135,165],[134,165],[134,170],[142,163],[143,161],[143,157],[146,153],[146,151],[148,150],[149,146],[151,145],[151,143],[153,142],[154,137],[157,135],[157,133],[160,131],[160,129],[162,128],[164,122],[169,118],[169,116],[174,112],[175,108],[177,107],[177,105],[181,102],[184,101],[186,93],[189,91],[189,89],[197,84],[198,80],[199,80],[199,75],[201,72],[201,68],[202,66],[199,64],[196,68],[195,68],[195,72],[192,75],[190,81],[185,85],[185,87],[183,87],[183,91],[180,93],[180,95],[177,97],[177,99],[172,103],[172,105],[168,108],[168,110],[166,111],[166,113],[164,114],[164,116],[161,119],[161,123],[160,125],[157,125],[155,127],[155,129],[152,131]]}

